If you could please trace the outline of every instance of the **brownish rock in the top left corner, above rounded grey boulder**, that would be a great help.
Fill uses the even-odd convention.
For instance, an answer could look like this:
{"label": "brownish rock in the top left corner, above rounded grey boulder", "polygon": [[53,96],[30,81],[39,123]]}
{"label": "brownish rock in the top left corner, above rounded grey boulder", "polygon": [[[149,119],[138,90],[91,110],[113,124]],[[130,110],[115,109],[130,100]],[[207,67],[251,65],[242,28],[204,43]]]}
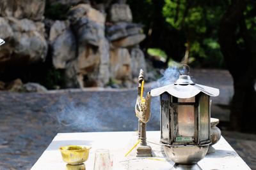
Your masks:
{"label": "brownish rock in the top left corner, above rounded grey boulder", "polygon": [[42,20],[45,0],[1,0],[0,15],[18,19]]}

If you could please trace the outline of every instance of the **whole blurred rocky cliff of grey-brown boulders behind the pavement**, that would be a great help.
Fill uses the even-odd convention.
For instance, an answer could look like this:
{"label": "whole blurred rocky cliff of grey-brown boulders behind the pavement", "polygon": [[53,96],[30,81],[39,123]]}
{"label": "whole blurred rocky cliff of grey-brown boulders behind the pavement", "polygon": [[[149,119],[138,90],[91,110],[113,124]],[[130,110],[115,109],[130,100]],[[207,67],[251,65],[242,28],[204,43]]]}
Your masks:
{"label": "whole blurred rocky cliff of grey-brown boulders behind the pavement", "polygon": [[131,87],[139,70],[146,69],[139,47],[145,35],[140,24],[132,23],[125,1],[47,3],[70,6],[65,19],[45,17],[44,0],[1,2],[0,38],[6,44],[0,47],[0,71],[49,57],[55,69],[63,70],[65,87],[71,88],[105,87],[109,81]]}

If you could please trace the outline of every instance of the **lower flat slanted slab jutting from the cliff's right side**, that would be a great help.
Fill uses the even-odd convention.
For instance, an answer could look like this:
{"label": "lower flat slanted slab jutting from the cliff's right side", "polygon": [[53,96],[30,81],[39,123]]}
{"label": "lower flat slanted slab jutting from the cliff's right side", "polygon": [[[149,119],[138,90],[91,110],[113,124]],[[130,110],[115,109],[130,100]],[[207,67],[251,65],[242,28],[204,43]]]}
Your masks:
{"label": "lower flat slanted slab jutting from the cliff's right side", "polygon": [[129,47],[138,45],[143,39],[145,39],[145,34],[136,34],[133,36],[128,36],[126,38],[118,39],[116,41],[112,41],[112,45],[116,47]]}

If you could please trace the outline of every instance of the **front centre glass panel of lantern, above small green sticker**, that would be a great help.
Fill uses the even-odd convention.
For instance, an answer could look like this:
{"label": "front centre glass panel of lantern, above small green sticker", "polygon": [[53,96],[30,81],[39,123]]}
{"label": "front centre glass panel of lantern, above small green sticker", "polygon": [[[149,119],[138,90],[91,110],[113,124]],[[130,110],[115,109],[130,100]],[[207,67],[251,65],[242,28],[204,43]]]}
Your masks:
{"label": "front centre glass panel of lantern, above small green sticker", "polygon": [[178,112],[178,131],[177,137],[195,136],[195,110],[193,105],[179,105]]}

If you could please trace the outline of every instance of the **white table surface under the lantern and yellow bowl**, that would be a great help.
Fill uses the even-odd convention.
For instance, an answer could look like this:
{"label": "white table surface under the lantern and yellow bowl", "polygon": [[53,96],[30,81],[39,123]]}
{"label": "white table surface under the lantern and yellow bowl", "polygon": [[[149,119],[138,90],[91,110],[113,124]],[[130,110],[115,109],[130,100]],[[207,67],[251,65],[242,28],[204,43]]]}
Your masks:
{"label": "white table surface under the lantern and yellow bowl", "polygon": [[[65,145],[92,146],[89,158],[84,162],[87,170],[93,169],[94,153],[99,148],[109,149],[109,152],[113,154],[113,170],[180,169],[171,160],[166,159],[161,146],[156,145],[159,143],[159,138],[159,131],[148,131],[147,141],[148,145],[152,147],[154,157],[137,158],[136,149],[127,157],[124,156],[136,143],[138,139],[136,132],[59,133],[31,169],[67,169],[67,164],[61,159],[61,153],[58,150],[60,146]],[[195,169],[250,169],[222,136],[220,141],[213,146],[216,152],[206,155],[198,162],[197,168],[194,166]],[[189,167],[189,169],[194,168]]]}

